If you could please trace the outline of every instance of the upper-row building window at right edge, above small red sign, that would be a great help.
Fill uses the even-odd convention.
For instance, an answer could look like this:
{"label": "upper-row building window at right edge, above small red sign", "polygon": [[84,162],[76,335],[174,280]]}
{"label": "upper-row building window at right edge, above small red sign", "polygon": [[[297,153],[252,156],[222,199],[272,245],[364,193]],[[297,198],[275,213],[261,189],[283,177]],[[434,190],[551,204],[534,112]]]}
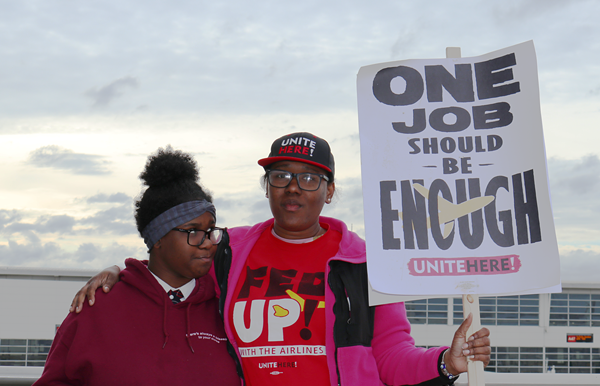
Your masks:
{"label": "upper-row building window at right edge, above small red sign", "polygon": [[600,294],[552,294],[551,326],[600,326]]}

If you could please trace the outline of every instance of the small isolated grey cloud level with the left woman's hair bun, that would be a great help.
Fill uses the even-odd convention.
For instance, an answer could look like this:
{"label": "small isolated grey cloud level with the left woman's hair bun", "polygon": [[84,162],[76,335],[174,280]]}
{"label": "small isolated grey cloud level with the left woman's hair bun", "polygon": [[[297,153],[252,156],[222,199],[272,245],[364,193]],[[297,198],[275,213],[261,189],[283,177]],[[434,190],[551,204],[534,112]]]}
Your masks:
{"label": "small isolated grey cloud level with the left woman's hair bun", "polygon": [[100,175],[110,174],[107,166],[110,161],[92,154],[75,153],[57,145],[42,146],[29,153],[26,161],[40,168],[65,170],[73,174]]}

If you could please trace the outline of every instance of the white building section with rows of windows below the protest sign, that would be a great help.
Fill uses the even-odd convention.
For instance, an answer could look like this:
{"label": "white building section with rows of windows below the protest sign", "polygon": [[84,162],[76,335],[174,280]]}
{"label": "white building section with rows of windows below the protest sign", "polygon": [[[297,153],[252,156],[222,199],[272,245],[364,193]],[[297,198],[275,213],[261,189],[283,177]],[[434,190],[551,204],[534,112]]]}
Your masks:
{"label": "white building section with rows of windows below the protest sign", "polygon": [[[407,302],[406,308],[420,346],[450,345],[463,320],[460,297]],[[492,339],[486,384],[600,385],[600,284],[482,297],[480,312]]]}

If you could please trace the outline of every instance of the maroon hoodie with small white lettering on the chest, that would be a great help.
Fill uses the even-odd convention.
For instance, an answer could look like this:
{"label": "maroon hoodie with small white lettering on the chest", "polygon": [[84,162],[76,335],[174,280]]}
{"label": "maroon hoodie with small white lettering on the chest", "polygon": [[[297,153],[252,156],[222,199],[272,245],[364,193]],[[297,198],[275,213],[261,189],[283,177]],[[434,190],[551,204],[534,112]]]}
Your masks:
{"label": "maroon hoodie with small white lettering on the chest", "polygon": [[213,279],[175,305],[145,262],[126,266],[110,293],[67,316],[35,385],[240,385]]}

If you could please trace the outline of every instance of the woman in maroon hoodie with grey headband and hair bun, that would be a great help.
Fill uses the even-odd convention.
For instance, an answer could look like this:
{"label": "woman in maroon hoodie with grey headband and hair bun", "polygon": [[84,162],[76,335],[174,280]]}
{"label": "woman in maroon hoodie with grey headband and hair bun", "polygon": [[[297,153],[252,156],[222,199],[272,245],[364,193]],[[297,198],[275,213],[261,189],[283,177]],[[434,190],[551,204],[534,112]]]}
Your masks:
{"label": "woman in maroon hoodie with grey headband and hair bun", "polygon": [[135,219],[149,260],[60,326],[36,385],[240,385],[206,275],[223,230],[191,156],[149,157]]}

